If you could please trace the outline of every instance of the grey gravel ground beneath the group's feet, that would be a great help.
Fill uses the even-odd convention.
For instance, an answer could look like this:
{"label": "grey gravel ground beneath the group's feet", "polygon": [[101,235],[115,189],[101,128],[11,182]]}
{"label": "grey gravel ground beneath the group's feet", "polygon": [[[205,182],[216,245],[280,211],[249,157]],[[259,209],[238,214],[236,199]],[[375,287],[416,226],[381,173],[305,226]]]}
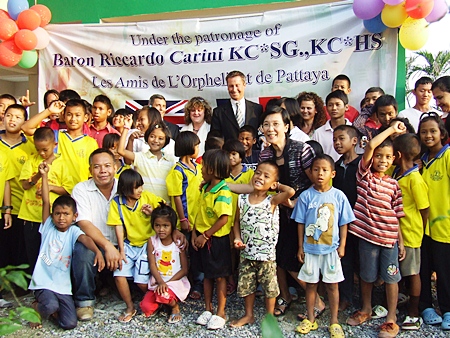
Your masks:
{"label": "grey gravel ground beneath the group's feet", "polygon": [[[377,289],[374,293],[374,300],[381,301],[383,290]],[[5,297],[9,298],[9,297]],[[24,305],[29,306],[33,300],[31,295],[21,298]],[[139,302],[139,295],[135,297],[136,306]],[[357,295],[354,301],[357,303]],[[54,323],[45,320],[43,328],[40,330],[31,330],[24,323],[24,329],[11,335],[11,337],[261,337],[261,320],[264,316],[264,299],[257,298],[255,306],[256,322],[253,325],[247,325],[241,328],[230,328],[227,326],[222,330],[208,331],[195,324],[196,318],[204,310],[203,301],[187,300],[181,304],[181,313],[183,320],[177,324],[168,324],[167,315],[160,313],[152,318],[145,318],[143,315],[136,315],[130,323],[121,324],[117,317],[125,309],[124,303],[117,296],[111,294],[98,299],[95,307],[94,319],[90,322],[79,322],[74,330],[64,331]],[[227,301],[227,314],[230,320],[236,319],[243,314],[243,300],[236,294],[230,296]],[[346,318],[355,308],[349,308],[339,314],[339,321],[345,323]],[[298,325],[296,319],[297,313],[305,311],[305,304],[299,302],[292,303],[291,308],[286,315],[279,318],[279,324],[285,337],[300,337],[295,333],[295,327]],[[1,309],[0,315],[5,316],[6,310]],[[398,315],[398,322],[401,323],[405,316],[405,309],[401,308]],[[319,330],[306,335],[308,338],[329,337],[327,330],[330,318],[329,309],[318,320]],[[378,327],[383,323],[382,319],[372,320],[359,327],[350,327],[342,325],[347,337],[371,338],[377,337]],[[440,326],[433,327],[423,325],[417,332],[401,332],[398,337],[450,337],[450,332],[442,331]]]}

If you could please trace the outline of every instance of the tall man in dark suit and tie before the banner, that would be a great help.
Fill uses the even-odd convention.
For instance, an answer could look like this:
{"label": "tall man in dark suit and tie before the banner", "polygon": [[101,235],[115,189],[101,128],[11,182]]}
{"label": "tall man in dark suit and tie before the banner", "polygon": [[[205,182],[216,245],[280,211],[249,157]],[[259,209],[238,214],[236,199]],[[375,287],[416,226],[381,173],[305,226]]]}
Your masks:
{"label": "tall man in dark suit and tie before the banner", "polygon": [[237,70],[228,73],[228,94],[230,101],[213,110],[211,130],[218,130],[225,141],[238,139],[239,129],[244,124],[249,124],[258,129],[262,106],[244,98],[245,75]]}

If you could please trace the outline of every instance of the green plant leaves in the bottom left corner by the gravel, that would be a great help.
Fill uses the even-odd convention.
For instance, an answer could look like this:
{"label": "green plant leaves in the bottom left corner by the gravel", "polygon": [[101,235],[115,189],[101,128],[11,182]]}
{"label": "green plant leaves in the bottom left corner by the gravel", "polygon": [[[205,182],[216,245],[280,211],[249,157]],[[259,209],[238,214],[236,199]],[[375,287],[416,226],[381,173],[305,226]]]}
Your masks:
{"label": "green plant leaves in the bottom left corner by the gravel", "polygon": [[27,274],[24,269],[28,268],[27,264],[19,266],[8,265],[0,269],[0,290],[10,291],[19,307],[10,310],[8,317],[0,318],[0,336],[6,336],[14,333],[22,328],[22,320],[31,323],[40,323],[41,316],[34,309],[22,306],[19,299],[14,293],[14,285],[26,290],[28,287],[27,279],[31,276]]}

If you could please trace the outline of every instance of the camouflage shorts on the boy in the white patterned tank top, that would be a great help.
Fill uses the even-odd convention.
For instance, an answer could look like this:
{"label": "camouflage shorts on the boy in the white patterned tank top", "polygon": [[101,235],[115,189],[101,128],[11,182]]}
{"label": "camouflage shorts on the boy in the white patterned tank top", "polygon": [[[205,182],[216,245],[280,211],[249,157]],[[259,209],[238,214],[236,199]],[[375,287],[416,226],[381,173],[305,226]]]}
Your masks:
{"label": "camouflage shorts on the boy in the white patterned tank top", "polygon": [[239,262],[238,295],[247,297],[261,284],[266,298],[280,294],[277,280],[277,264],[274,261],[254,261],[241,257]]}

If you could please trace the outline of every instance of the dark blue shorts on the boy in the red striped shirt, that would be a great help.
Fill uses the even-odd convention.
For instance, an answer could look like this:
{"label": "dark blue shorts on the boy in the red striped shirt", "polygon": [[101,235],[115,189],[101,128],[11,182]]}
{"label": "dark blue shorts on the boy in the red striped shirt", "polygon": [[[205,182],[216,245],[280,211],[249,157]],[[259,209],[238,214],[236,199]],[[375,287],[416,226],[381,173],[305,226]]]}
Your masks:
{"label": "dark blue shorts on the boy in the red striped shirt", "polygon": [[401,279],[397,243],[393,248],[386,248],[360,239],[359,261],[359,274],[366,283],[375,282],[378,276],[387,284],[398,283]]}

